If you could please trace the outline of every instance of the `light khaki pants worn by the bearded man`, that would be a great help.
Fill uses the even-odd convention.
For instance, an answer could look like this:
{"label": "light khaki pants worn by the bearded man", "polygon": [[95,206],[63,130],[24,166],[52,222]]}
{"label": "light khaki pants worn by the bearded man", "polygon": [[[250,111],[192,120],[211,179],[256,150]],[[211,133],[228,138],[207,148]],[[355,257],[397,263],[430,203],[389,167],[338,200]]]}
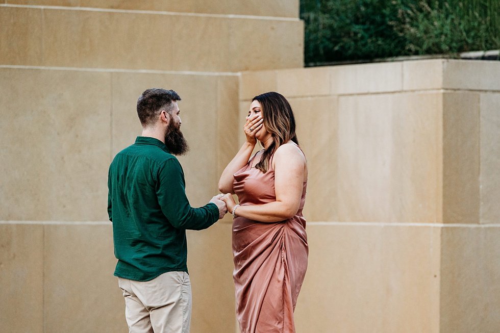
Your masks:
{"label": "light khaki pants worn by the bearded man", "polygon": [[149,281],[118,277],[130,333],[188,333],[191,281],[186,272],[167,272]]}

